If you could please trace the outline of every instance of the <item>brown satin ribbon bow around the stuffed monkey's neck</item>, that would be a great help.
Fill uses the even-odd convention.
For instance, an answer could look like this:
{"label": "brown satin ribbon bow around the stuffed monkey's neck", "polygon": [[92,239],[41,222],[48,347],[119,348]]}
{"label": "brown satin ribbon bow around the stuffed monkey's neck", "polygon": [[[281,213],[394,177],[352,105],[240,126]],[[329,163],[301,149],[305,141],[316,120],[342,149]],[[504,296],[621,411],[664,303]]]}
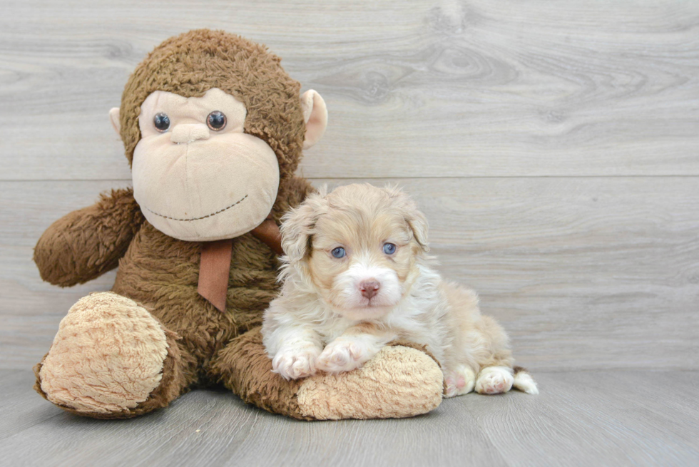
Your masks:
{"label": "brown satin ribbon bow around the stuffed monkey's neck", "polygon": [[[282,235],[277,223],[272,219],[272,212],[267,216],[267,219],[262,221],[262,224],[252,229],[250,233],[264,242],[277,255],[284,254]],[[221,312],[225,312],[232,252],[232,238],[203,242],[201,246],[197,292]]]}

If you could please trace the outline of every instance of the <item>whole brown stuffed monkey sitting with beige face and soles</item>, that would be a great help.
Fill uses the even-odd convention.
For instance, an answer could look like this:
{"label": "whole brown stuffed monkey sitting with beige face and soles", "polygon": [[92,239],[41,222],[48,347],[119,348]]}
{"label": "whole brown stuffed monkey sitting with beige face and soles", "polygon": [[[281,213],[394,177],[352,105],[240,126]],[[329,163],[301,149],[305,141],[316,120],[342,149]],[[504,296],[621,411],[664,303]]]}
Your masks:
{"label": "whole brown stuffed monkey sitting with beige face and soles", "polygon": [[41,277],[61,287],[118,266],[111,292],[80,299],[35,367],[35,389],[74,414],[120,419],[223,384],[297,419],[423,414],[442,372],[407,345],[364,368],[285,381],[260,337],[275,297],[280,217],[312,190],[294,176],[325,131],[325,103],[265,47],[221,31],[168,39],[136,67],[110,113],[133,189],[49,227]]}

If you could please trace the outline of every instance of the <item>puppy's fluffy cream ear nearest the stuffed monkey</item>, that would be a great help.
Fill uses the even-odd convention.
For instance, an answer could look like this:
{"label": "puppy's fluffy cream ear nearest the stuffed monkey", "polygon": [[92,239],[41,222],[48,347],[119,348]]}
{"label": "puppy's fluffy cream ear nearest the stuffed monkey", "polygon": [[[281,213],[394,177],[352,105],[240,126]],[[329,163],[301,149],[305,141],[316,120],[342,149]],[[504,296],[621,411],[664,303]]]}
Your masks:
{"label": "puppy's fluffy cream ear nearest the stuffed monkey", "polygon": [[[321,194],[325,193],[325,188],[322,187],[320,191]],[[315,222],[325,205],[321,194],[308,195],[299,207],[282,217],[282,250],[291,264],[300,262],[309,253]]]}

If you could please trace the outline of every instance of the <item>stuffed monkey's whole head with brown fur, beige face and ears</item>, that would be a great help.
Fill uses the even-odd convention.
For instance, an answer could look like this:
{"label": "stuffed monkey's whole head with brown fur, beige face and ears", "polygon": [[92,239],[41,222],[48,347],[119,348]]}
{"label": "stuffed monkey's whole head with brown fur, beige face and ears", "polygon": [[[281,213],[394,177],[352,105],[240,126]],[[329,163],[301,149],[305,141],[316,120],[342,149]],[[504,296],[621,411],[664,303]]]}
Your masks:
{"label": "stuffed monkey's whole head with brown fur, beige face and ears", "polygon": [[320,140],[325,102],[264,46],[200,29],[161,43],[110,118],[148,222],[188,241],[237,237],[270,214],[303,148]]}

